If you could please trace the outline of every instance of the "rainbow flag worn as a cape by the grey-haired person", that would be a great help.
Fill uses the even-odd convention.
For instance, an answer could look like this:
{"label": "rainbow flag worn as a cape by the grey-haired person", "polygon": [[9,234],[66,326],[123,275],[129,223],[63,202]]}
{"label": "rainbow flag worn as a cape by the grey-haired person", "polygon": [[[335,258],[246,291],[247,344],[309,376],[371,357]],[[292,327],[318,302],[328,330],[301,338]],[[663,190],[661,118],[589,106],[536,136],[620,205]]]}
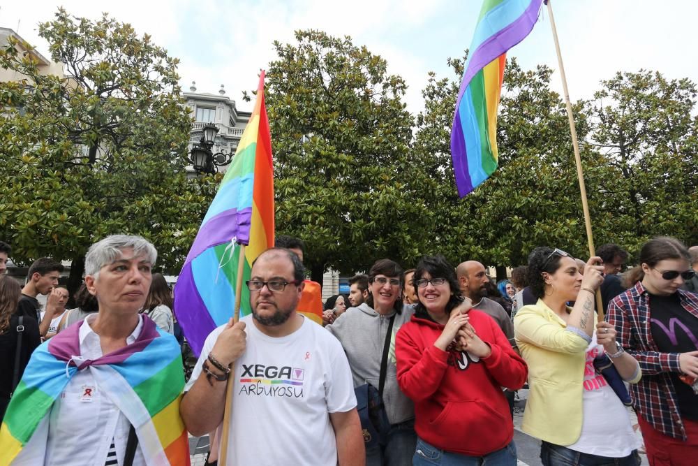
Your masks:
{"label": "rainbow flag worn as a cape by the grey-haired person", "polygon": [[[147,316],[142,319],[141,333],[133,344],[95,361],[84,361],[80,367],[72,357],[80,354],[83,322],[66,328],[34,351],[0,429],[0,465],[12,463],[35,432],[47,435],[47,429],[37,430],[38,425],[50,415],[70,378],[88,365],[101,390],[110,394],[135,427],[148,465],[190,464],[187,433],[179,417],[184,388],[179,344]],[[41,448],[47,444],[47,438],[34,441],[32,444]]]}

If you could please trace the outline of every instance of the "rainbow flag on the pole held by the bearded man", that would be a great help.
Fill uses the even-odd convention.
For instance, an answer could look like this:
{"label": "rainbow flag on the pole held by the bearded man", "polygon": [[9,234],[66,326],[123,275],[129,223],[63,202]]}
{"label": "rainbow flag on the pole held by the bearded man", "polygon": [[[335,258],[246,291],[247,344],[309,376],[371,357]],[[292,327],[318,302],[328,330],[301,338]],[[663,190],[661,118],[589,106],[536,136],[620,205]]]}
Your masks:
{"label": "rainbow flag on the pole held by the bearded man", "polygon": [[[257,256],[274,246],[274,170],[264,77],[262,71],[250,121],[174,286],[174,312],[197,355],[209,333],[232,317],[239,245],[246,245],[243,281]],[[240,301],[241,313],[249,314],[247,286]]]}

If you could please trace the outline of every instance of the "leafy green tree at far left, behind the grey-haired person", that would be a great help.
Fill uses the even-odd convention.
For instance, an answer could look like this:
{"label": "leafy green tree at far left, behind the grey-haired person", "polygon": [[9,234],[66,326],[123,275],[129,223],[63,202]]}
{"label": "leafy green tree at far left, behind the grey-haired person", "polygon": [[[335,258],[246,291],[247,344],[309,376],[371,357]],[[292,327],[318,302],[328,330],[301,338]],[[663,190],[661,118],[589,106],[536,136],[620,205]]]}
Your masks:
{"label": "leafy green tree at far left, behind the grey-haired person", "polygon": [[107,15],[60,9],[39,34],[67,78],[40,74],[15,41],[0,52],[24,76],[0,84],[0,238],[19,261],[72,260],[72,289],[87,247],[111,233],[149,238],[159,265],[178,270],[215,185],[186,178],[177,59]]}

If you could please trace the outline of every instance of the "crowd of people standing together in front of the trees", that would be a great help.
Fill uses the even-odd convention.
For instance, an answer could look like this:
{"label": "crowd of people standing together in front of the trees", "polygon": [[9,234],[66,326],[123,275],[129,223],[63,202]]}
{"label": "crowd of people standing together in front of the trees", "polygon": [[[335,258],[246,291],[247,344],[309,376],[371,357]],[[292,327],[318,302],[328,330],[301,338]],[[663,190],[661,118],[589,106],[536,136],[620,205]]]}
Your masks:
{"label": "crowd of people standing together in front of the trees", "polygon": [[544,465],[695,464],[698,247],[653,238],[623,275],[618,245],[537,247],[498,283],[473,260],[380,259],[320,315],[303,253],[283,237],[255,260],[251,315],[211,332],[185,384],[147,240],[93,245],[70,310],[61,263],[22,287],[0,242],[0,464],[185,465],[190,432],[209,464],[224,446],[230,465],[514,466],[526,384]]}

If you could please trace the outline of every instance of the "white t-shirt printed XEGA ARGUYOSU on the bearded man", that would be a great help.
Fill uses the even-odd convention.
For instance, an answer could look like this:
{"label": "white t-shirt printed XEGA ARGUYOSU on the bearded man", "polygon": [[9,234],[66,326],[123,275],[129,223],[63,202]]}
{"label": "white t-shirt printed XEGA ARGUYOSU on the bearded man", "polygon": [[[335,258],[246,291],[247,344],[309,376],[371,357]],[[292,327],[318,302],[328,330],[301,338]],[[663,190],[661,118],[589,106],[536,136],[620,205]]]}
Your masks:
{"label": "white t-shirt printed XEGA ARGUYOSU on the bearded man", "polygon": [[[305,319],[285,337],[269,337],[245,316],[247,347],[234,377],[228,465],[337,464],[329,413],[356,407],[346,355],[334,336]],[[225,326],[207,337],[188,391]],[[209,363],[210,365],[210,363]],[[220,383],[220,382],[214,382]]]}

